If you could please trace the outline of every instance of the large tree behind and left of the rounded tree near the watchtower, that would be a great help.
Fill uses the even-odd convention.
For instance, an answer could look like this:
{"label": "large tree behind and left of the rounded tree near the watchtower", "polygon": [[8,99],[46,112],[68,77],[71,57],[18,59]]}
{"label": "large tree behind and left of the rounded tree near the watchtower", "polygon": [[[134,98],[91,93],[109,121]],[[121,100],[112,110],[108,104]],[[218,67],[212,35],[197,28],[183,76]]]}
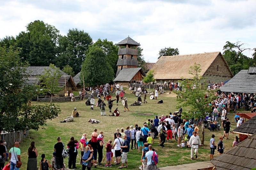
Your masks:
{"label": "large tree behind and left of the rounded tree near the watchtower", "polygon": [[60,38],[56,66],[62,69],[64,65],[68,64],[73,68],[75,74],[79,73],[90,45],[92,45],[92,38],[88,33],[77,30],[77,28],[69,29],[67,36]]}

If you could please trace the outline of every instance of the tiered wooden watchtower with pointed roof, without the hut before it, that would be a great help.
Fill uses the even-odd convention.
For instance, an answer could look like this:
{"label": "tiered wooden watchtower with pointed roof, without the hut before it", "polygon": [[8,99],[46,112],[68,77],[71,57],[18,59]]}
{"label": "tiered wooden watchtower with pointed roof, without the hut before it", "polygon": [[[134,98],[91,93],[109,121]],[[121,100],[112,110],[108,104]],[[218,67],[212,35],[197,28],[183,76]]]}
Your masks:
{"label": "tiered wooden watchtower with pointed roof, without the hut before it", "polygon": [[118,61],[117,61],[117,71],[116,76],[124,68],[137,68],[139,66],[137,61],[138,50],[137,47],[140,44],[132,40],[129,36],[120,41],[116,45],[119,46],[118,49]]}

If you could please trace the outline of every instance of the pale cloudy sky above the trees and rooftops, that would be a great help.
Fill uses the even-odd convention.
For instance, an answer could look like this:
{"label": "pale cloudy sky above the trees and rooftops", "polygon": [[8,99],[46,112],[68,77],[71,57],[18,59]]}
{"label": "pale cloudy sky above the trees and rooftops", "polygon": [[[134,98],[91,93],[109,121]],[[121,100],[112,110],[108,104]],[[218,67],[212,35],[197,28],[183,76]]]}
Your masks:
{"label": "pale cloudy sky above the trees and rooftops", "polygon": [[165,47],[180,54],[223,52],[226,41],[256,48],[255,9],[256,0],[0,0],[0,38],[42,20],[61,35],[84,30],[93,41],[118,43],[129,35],[144,59],[156,62]]}

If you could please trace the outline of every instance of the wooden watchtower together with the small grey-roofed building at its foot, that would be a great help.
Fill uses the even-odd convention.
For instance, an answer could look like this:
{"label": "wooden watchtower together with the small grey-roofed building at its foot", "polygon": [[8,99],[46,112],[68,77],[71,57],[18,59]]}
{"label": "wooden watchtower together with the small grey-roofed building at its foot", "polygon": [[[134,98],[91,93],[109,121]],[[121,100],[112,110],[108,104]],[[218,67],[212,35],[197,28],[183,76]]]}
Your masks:
{"label": "wooden watchtower together with the small grey-roofed building at its foot", "polygon": [[119,49],[118,61],[116,64],[116,78],[114,79],[114,82],[122,84],[124,87],[128,87],[129,83],[141,81],[142,76],[145,76],[145,74],[143,70],[138,67],[137,47],[140,46],[140,44],[128,36],[116,45],[119,46]]}

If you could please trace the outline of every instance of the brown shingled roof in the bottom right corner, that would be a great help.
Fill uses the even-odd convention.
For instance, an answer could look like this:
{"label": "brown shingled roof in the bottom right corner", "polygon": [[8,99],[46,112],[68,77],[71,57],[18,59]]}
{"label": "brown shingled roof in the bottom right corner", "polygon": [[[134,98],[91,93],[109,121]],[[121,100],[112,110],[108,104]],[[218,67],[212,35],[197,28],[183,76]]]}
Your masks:
{"label": "brown shingled roof in the bottom right corner", "polygon": [[237,144],[211,162],[217,170],[243,169],[256,167],[256,133]]}

